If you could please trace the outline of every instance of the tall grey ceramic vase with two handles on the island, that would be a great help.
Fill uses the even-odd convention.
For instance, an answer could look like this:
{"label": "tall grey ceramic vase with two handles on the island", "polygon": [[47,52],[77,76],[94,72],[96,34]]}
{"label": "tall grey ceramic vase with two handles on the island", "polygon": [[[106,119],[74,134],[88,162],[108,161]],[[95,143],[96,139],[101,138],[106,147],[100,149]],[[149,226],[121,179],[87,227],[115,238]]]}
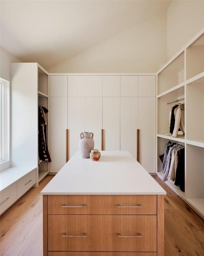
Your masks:
{"label": "tall grey ceramic vase with two handles on the island", "polygon": [[91,150],[94,149],[94,140],[92,132],[81,132],[79,141],[79,150],[82,158],[89,158]]}

